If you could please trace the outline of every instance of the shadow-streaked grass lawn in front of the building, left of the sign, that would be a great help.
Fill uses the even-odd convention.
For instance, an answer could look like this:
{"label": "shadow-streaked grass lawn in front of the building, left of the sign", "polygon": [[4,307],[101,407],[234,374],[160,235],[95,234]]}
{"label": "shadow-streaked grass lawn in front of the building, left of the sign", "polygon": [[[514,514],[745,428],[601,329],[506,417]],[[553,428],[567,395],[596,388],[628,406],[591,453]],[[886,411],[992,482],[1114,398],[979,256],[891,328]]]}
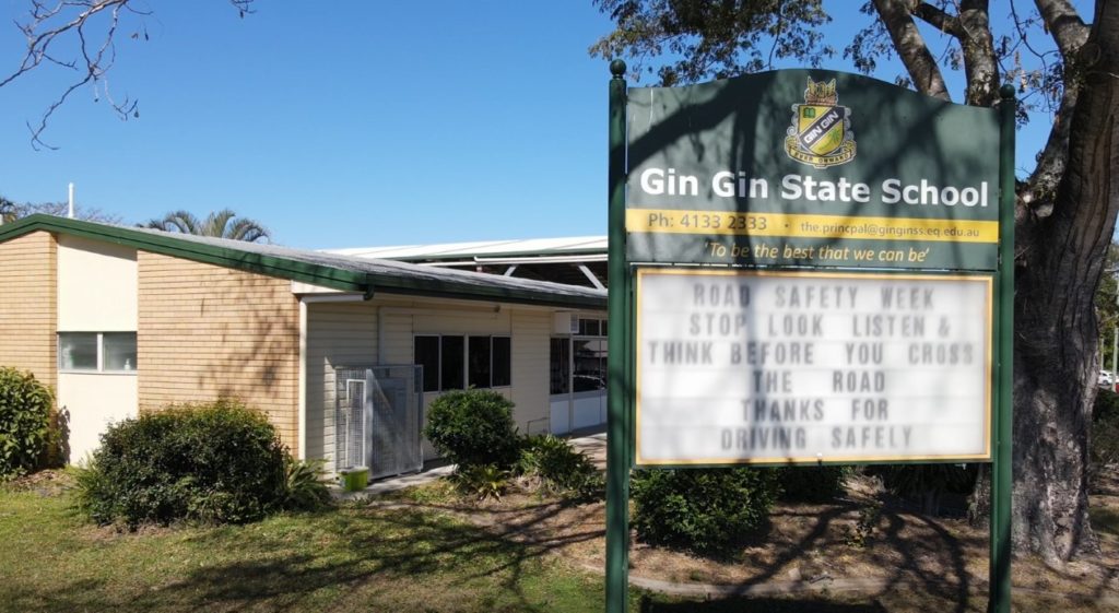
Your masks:
{"label": "shadow-streaked grass lawn in front of the building, left of the sign", "polygon": [[0,611],[587,611],[602,579],[434,512],[341,508],[117,534],[0,490]]}

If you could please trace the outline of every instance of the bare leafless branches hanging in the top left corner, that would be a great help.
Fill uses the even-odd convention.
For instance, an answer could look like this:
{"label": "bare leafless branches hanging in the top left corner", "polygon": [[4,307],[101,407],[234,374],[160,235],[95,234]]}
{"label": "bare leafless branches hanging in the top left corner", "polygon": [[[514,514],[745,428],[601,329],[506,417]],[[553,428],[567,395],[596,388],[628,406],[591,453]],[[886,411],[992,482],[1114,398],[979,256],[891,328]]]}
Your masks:
{"label": "bare leafless branches hanging in the top left corner", "polygon": [[[228,0],[241,17],[252,12],[253,0]],[[116,100],[109,87],[109,72],[116,62],[115,39],[121,29],[132,39],[148,40],[145,20],[152,17],[147,3],[138,0],[29,0],[30,10],[16,27],[27,43],[19,66],[4,75],[0,73],[0,87],[40,68],[54,66],[72,72],[74,77],[63,93],[39,116],[30,122],[31,147],[57,149],[43,141],[50,116],[70,94],[90,87],[94,98],[104,97],[121,120],[140,116],[138,101],[125,96]]]}

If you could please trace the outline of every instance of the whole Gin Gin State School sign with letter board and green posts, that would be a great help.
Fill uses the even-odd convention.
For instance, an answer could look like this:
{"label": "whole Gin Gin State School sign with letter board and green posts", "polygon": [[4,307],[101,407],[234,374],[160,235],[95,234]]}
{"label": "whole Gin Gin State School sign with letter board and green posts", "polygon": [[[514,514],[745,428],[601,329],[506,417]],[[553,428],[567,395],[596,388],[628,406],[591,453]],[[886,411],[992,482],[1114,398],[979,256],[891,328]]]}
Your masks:
{"label": "whole Gin Gin State School sign with letter board and green posts", "polygon": [[612,70],[608,610],[630,466],[867,462],[995,463],[1003,610],[1013,91]]}

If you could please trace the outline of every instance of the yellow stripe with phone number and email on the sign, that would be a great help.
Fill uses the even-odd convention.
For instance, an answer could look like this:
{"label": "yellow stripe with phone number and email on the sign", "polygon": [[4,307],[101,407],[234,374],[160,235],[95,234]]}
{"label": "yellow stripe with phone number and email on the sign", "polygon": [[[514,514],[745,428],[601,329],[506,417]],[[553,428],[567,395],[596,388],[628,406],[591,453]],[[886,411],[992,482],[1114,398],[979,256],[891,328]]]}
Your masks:
{"label": "yellow stripe with phone number and email on the sign", "polygon": [[630,208],[627,232],[998,243],[998,221]]}

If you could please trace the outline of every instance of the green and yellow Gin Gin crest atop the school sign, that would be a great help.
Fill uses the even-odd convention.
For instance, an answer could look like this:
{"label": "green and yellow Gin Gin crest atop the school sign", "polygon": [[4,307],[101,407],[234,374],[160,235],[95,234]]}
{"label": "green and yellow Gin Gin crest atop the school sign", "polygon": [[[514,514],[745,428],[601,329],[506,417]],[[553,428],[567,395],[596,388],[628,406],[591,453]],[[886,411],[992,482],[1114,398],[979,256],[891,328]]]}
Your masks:
{"label": "green and yellow Gin Gin crest atop the school sign", "polygon": [[792,105],[792,126],[784,139],[784,152],[790,158],[816,168],[855,159],[850,109],[839,106],[838,102],[835,79],[814,82],[808,77],[805,104]]}

